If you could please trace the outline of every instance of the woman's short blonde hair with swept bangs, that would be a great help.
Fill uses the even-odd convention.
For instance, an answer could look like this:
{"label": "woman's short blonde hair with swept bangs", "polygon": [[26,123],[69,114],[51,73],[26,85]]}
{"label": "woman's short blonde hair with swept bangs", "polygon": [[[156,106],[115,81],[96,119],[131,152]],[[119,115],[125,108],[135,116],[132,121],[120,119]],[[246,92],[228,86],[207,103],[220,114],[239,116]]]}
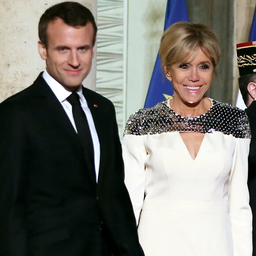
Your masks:
{"label": "woman's short blonde hair with swept bangs", "polygon": [[169,26],[162,35],[159,50],[165,73],[175,63],[193,60],[199,48],[211,59],[215,70],[220,58],[220,47],[210,27],[187,22],[177,22]]}

